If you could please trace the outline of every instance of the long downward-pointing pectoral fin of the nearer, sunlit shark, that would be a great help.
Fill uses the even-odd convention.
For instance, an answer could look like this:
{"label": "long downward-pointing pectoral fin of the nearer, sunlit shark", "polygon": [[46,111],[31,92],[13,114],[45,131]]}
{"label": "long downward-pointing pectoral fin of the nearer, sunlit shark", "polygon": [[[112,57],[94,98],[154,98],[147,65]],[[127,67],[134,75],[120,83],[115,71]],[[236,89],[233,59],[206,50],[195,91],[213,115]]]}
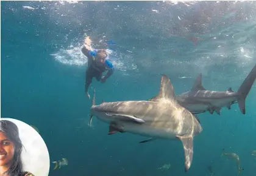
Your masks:
{"label": "long downward-pointing pectoral fin of the nearer, sunlit shark", "polygon": [[183,149],[185,152],[185,172],[190,169],[192,160],[193,160],[193,137],[179,137],[179,140],[182,141]]}

